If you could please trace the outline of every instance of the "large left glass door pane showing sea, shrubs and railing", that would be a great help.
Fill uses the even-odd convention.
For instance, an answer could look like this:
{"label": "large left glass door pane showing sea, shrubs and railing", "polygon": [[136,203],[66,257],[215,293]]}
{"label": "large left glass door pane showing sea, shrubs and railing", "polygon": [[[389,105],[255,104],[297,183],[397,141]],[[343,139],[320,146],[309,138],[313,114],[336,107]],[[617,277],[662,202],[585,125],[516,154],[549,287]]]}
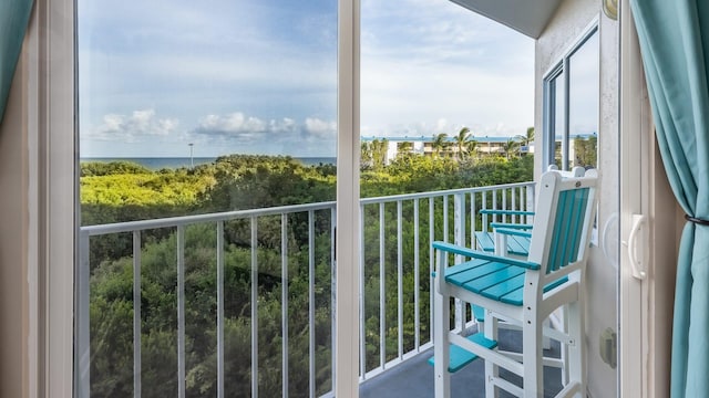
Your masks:
{"label": "large left glass door pane showing sea, shrubs and railing", "polygon": [[332,390],[337,4],[78,1],[93,396]]}

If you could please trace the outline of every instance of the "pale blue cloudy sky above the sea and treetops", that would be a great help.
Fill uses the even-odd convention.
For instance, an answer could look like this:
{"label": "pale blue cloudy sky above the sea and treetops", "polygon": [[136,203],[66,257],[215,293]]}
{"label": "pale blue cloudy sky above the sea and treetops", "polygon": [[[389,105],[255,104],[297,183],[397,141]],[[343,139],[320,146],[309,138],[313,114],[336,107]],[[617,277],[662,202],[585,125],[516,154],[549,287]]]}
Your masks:
{"label": "pale blue cloudy sky above the sea and treetops", "polygon": [[[362,0],[361,135],[533,125],[534,42],[445,0]],[[337,0],[79,1],[82,157],[333,156]]]}

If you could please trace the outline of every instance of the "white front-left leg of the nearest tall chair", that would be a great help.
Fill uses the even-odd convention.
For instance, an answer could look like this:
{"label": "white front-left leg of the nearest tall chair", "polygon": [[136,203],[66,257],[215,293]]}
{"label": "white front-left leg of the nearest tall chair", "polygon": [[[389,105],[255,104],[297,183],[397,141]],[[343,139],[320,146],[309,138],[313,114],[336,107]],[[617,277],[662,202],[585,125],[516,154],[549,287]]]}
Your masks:
{"label": "white front-left leg of the nearest tall chair", "polygon": [[448,371],[450,363],[450,297],[440,292],[434,294],[434,322],[433,322],[433,354],[434,354],[434,377],[435,398],[450,398],[451,396],[451,374]]}

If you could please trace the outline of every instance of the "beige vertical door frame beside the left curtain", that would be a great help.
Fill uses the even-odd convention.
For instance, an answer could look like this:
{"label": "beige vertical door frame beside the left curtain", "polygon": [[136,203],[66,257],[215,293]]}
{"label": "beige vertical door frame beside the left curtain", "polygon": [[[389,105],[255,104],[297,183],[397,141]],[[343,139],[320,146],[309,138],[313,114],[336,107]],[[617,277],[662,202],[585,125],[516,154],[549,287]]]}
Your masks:
{"label": "beige vertical door frame beside the left curtain", "polygon": [[[17,75],[22,80],[22,167],[27,178],[28,293],[23,390],[29,397],[74,389],[74,233],[76,140],[74,0],[37,0]],[[20,72],[21,71],[21,72]]]}

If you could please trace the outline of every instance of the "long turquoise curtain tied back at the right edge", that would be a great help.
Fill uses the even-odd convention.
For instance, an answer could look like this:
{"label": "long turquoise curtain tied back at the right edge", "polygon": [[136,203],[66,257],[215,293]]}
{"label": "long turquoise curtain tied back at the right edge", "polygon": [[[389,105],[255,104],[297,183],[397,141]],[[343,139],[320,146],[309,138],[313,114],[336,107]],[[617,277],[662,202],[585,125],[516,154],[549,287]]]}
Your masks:
{"label": "long turquoise curtain tied back at the right edge", "polygon": [[[630,0],[670,185],[687,213],[677,263],[672,397],[709,394],[709,1]],[[658,264],[661,266],[661,264]]]}

